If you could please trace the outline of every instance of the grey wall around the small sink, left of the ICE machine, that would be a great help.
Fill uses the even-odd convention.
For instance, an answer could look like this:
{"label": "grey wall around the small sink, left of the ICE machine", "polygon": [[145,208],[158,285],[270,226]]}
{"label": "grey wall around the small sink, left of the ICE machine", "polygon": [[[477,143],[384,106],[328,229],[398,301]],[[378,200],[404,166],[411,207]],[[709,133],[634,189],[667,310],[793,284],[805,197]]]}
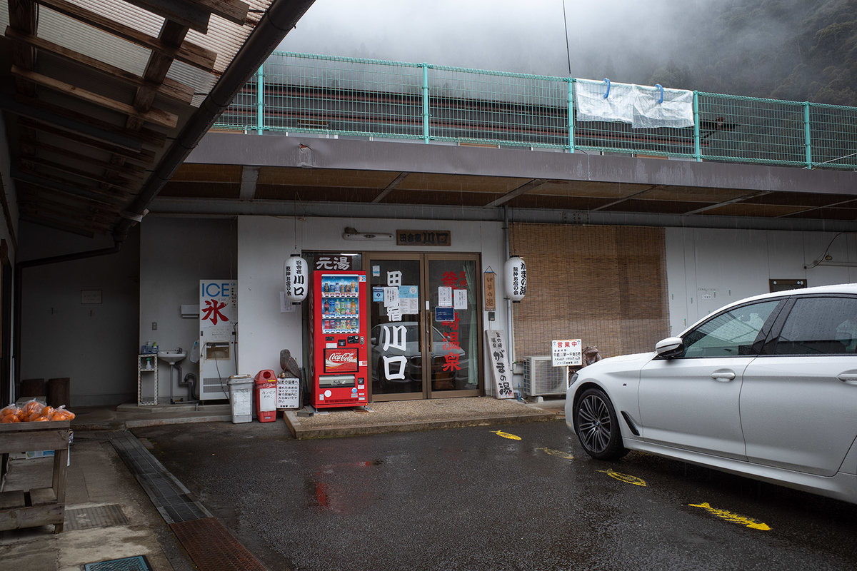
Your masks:
{"label": "grey wall around the small sink, left of the ICE machine", "polygon": [[[201,279],[234,279],[237,276],[235,219],[146,217],[141,223],[140,329],[135,354],[147,341],[162,350],[181,347],[188,351],[200,338],[199,318],[182,318],[182,305],[199,305]],[[280,263],[282,264],[282,263]],[[153,323],[158,324],[153,330]],[[199,366],[185,359],[182,376]],[[159,402],[169,402],[170,366],[158,363]],[[134,383],[137,373],[134,369]],[[188,398],[188,389],[172,379],[175,399]],[[135,387],[136,391],[136,387]],[[135,397],[136,399],[136,397]]]}

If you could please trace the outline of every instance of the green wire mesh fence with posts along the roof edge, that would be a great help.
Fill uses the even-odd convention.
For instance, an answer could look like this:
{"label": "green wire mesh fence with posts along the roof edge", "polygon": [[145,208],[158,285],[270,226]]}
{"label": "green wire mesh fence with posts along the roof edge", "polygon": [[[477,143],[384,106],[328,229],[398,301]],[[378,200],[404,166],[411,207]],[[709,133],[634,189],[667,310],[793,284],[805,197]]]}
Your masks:
{"label": "green wire mesh fence with posts along the roof edge", "polygon": [[578,120],[598,83],[274,52],[213,127],[857,169],[854,107],[693,92],[691,127]]}

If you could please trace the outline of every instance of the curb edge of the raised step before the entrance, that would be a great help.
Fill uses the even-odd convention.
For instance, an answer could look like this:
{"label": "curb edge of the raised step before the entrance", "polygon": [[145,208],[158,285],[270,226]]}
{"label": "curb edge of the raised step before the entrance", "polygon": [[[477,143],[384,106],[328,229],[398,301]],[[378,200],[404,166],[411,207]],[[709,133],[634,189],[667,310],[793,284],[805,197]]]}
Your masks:
{"label": "curb edge of the raised step before the entrance", "polygon": [[461,428],[464,426],[490,426],[505,424],[521,424],[524,422],[544,422],[558,419],[555,413],[543,411],[529,414],[513,414],[510,416],[486,416],[469,419],[414,420],[398,424],[379,425],[343,425],[305,428],[296,413],[286,411],[283,420],[289,427],[291,436],[297,440],[306,438],[349,437],[368,434],[384,434],[388,432],[429,431],[441,428]]}

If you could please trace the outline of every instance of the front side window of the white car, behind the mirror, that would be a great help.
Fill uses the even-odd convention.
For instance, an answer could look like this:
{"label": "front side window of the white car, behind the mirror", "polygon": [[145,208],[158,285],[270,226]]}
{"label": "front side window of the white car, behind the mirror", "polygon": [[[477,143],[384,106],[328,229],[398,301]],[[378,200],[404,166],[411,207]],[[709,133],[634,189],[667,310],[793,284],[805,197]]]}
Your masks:
{"label": "front side window of the white car, behind the mirror", "polygon": [[780,300],[736,307],[684,336],[685,359],[752,354],[752,344]]}

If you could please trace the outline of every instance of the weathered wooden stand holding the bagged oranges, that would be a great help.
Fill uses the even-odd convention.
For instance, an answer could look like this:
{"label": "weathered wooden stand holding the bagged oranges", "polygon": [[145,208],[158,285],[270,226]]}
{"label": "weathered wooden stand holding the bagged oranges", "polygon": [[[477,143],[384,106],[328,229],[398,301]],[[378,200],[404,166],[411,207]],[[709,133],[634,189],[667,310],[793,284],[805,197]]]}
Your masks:
{"label": "weathered wooden stand holding the bagged oranges", "polygon": [[70,437],[68,420],[0,424],[0,453],[54,451],[50,488],[0,493],[0,531],[53,524],[54,533],[63,532]]}

